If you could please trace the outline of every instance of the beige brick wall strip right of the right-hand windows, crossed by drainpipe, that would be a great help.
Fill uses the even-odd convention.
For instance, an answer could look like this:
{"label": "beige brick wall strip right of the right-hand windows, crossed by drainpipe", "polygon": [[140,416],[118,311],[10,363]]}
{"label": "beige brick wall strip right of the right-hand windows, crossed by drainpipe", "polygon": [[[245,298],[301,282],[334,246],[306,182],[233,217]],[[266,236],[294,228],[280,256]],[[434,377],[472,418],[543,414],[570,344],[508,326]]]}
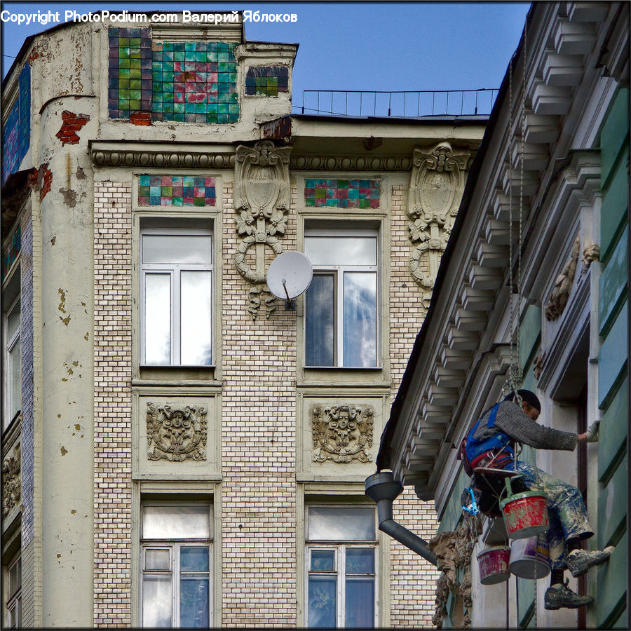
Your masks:
{"label": "beige brick wall strip right of the right-hand windows, crossed by drainpipe", "polygon": [[[409,273],[412,245],[407,238],[405,203],[407,189],[393,186],[391,208],[391,365],[393,401],[414,339],[423,324],[426,309],[421,297],[425,290]],[[425,270],[429,273],[429,266]],[[393,517],[414,534],[429,540],[438,527],[433,502],[421,502],[412,487],[393,504]],[[391,542],[391,624],[393,627],[430,627],[434,611],[435,567],[398,541]]]}

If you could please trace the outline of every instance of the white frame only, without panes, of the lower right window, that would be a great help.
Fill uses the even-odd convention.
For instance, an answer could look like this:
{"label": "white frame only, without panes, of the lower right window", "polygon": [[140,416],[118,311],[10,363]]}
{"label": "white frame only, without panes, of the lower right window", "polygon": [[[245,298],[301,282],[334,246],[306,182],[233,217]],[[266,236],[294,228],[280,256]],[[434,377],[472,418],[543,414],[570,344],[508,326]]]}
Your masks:
{"label": "white frame only, without panes, of the lower right window", "polygon": [[[310,576],[336,576],[336,628],[346,628],[346,550],[351,548],[372,548],[374,550],[374,572],[370,574],[353,574],[353,576],[369,576],[374,583],[374,616],[373,627],[379,627],[379,541],[377,539],[378,529],[376,524],[376,511],[374,511],[374,540],[353,540],[348,541],[322,541],[309,539],[308,535],[308,511],[309,508],[372,508],[369,506],[349,506],[348,504],[313,504],[309,503],[305,507],[305,550],[304,550],[304,626],[308,627],[309,617],[309,577]],[[334,570],[333,571],[311,571],[311,552],[334,550]]]}

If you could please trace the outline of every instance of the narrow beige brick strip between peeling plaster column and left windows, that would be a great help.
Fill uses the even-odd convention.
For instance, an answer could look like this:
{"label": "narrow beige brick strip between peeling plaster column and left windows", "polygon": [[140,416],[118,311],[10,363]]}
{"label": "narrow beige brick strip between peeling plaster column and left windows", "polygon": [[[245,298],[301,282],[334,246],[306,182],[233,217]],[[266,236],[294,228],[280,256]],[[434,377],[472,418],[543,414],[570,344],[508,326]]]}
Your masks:
{"label": "narrow beige brick strip between peeling plaster column and left windows", "polygon": [[95,183],[94,197],[94,625],[128,627],[132,550],[130,185]]}

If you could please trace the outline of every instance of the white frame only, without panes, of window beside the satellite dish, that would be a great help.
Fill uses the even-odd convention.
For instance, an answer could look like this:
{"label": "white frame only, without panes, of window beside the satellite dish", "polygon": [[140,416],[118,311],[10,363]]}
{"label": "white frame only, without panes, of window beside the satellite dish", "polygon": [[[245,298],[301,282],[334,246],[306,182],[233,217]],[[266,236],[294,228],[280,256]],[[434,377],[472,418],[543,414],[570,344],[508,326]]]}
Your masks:
{"label": "white frame only, without panes, of window beside the satellite dish", "polygon": [[[375,228],[329,228],[329,229],[316,229],[309,228],[308,226],[304,231],[305,250],[306,240],[310,237],[374,237],[375,242],[375,264],[374,265],[321,265],[313,264],[313,276],[317,275],[330,275],[333,274],[334,288],[333,299],[335,302],[335,322],[333,332],[333,354],[334,360],[332,366],[318,366],[307,364],[307,341],[306,341],[306,301],[305,301],[305,324],[304,324],[304,366],[306,368],[344,368],[344,369],[358,369],[368,368],[375,369],[381,367],[381,353],[380,351],[380,339],[381,339],[381,257],[379,247],[379,230]],[[375,274],[375,360],[374,366],[345,366],[344,365],[344,273],[345,272],[372,272]]]}

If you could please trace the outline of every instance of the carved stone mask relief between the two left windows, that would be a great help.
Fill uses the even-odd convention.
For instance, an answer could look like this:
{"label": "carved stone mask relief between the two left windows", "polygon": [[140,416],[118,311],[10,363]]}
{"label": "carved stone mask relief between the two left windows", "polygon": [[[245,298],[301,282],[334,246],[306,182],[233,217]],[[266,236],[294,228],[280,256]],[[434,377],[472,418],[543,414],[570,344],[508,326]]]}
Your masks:
{"label": "carved stone mask relief between the two left windows", "polygon": [[206,408],[147,403],[147,457],[182,462],[206,459]]}

